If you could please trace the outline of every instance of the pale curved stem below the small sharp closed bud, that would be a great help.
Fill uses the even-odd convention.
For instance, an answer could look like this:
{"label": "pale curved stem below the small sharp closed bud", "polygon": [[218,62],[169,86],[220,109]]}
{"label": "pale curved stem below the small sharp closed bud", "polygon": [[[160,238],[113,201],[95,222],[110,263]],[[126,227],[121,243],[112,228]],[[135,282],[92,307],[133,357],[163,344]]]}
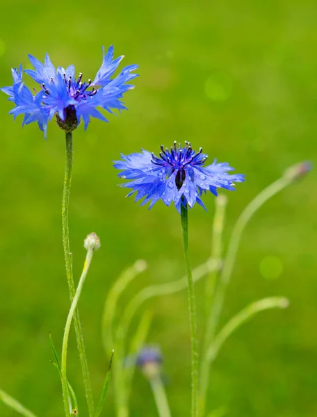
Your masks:
{"label": "pale curved stem below the small sharp closed bud", "polygon": [[83,272],[81,273],[81,278],[79,279],[79,284],[76,289],[76,293],[72,300],[72,305],[70,306],[70,312],[68,313],[64,337],[63,337],[63,347],[62,347],[62,359],[60,364],[60,375],[62,379],[62,389],[63,389],[63,398],[64,398],[64,408],[65,408],[65,415],[68,417],[70,415],[70,411],[68,408],[68,386],[67,386],[67,373],[66,373],[66,363],[67,363],[67,345],[68,345],[68,338],[70,336],[70,326],[72,325],[72,319],[74,317],[74,313],[76,311],[76,306],[79,302],[79,297],[81,296],[81,290],[83,289],[83,283],[85,282],[90,262],[92,260],[93,250],[91,248],[87,251],[86,261],[83,265]]}

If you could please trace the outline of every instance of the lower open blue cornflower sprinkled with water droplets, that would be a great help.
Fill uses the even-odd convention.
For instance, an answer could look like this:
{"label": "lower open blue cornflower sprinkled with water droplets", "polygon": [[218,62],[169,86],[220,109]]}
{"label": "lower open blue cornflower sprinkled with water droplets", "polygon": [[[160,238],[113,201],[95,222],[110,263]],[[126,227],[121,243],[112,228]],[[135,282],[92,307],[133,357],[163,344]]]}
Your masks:
{"label": "lower open blue cornflower sprinkled with water droplets", "polygon": [[204,167],[207,158],[202,154],[202,148],[195,152],[190,143],[177,147],[175,141],[170,150],[162,145],[159,157],[145,150],[127,156],[122,154],[114,167],[123,170],[118,177],[132,180],[121,185],[133,189],[128,197],[136,191],[135,201],[145,197],[141,205],[150,202],[149,208],[159,199],[167,206],[174,202],[180,213],[181,205],[186,207],[188,204],[192,208],[195,202],[205,208],[200,199],[203,191],[217,195],[217,188],[234,190],[234,181],[244,181],[243,174],[227,173],[234,170],[227,162],[216,163],[215,159]]}

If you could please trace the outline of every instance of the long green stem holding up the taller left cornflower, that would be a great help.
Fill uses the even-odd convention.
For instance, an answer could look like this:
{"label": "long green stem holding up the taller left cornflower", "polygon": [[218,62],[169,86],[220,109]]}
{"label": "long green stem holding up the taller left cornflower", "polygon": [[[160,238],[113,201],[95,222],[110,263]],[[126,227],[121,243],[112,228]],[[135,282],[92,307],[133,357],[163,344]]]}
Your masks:
{"label": "long green stem holding up the taller left cornflower", "polygon": [[[67,275],[67,284],[70,290],[70,301],[74,299],[75,286],[72,275],[72,254],[70,252],[70,235],[68,231],[68,211],[70,206],[70,184],[72,182],[72,163],[73,163],[73,149],[72,149],[72,133],[67,133],[66,140],[66,164],[65,164],[65,178],[63,188],[63,204],[62,204],[62,226],[63,226],[63,249],[65,256],[65,267]],[[88,371],[88,363],[86,359],[85,346],[83,344],[83,332],[81,329],[81,321],[79,318],[78,309],[74,313],[74,328],[76,332],[77,346],[79,350],[79,359],[81,362],[81,370],[83,373],[83,384],[85,386],[86,400],[88,404],[88,413],[90,417],[95,416],[94,401],[92,398],[92,389],[90,384],[90,377]]]}

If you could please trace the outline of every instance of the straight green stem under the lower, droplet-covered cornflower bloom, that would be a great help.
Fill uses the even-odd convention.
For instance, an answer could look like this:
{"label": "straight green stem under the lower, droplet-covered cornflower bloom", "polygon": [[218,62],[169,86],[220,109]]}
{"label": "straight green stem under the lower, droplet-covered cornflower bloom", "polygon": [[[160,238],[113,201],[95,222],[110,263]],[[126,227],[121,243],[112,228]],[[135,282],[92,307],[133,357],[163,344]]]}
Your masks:
{"label": "straight green stem under the lower, droplet-covered cornflower bloom", "polygon": [[192,354],[192,398],[191,398],[191,416],[197,417],[197,397],[198,397],[198,349],[197,349],[197,323],[196,323],[196,306],[195,293],[188,253],[188,207],[181,205],[181,228],[183,231],[184,254],[186,260],[187,278],[188,278],[188,305],[191,334],[191,354]]}

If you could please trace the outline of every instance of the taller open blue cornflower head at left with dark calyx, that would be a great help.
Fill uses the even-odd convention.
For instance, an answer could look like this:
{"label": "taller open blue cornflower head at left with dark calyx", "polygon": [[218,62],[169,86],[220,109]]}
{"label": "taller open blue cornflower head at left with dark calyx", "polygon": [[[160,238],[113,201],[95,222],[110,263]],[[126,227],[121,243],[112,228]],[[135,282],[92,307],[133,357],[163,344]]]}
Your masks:
{"label": "taller open blue cornflower head at left with dark calyx", "polygon": [[91,117],[97,117],[104,122],[108,122],[97,107],[104,108],[109,113],[111,109],[117,108],[119,111],[126,109],[122,104],[122,95],[133,85],[127,84],[137,74],[131,74],[138,65],[128,65],[115,78],[111,79],[120,61],[124,56],[113,60],[113,46],[108,49],[107,54],[103,50],[103,61],[95,79],[83,82],[83,74],[79,73],[78,78],[74,77],[74,65],[70,65],[64,70],[63,67],[57,69],[51,63],[49,55],[46,54],[44,64],[34,56],[29,55],[34,70],[25,70],[33,80],[40,84],[40,91],[32,94],[22,81],[22,65],[19,70],[14,68],[13,86],[4,87],[0,90],[5,92],[14,101],[15,108],[9,113],[14,117],[24,114],[24,124],[38,122],[38,126],[47,133],[47,122],[54,115],[58,125],[65,131],[73,131],[78,126],[81,119],[87,129]]}

